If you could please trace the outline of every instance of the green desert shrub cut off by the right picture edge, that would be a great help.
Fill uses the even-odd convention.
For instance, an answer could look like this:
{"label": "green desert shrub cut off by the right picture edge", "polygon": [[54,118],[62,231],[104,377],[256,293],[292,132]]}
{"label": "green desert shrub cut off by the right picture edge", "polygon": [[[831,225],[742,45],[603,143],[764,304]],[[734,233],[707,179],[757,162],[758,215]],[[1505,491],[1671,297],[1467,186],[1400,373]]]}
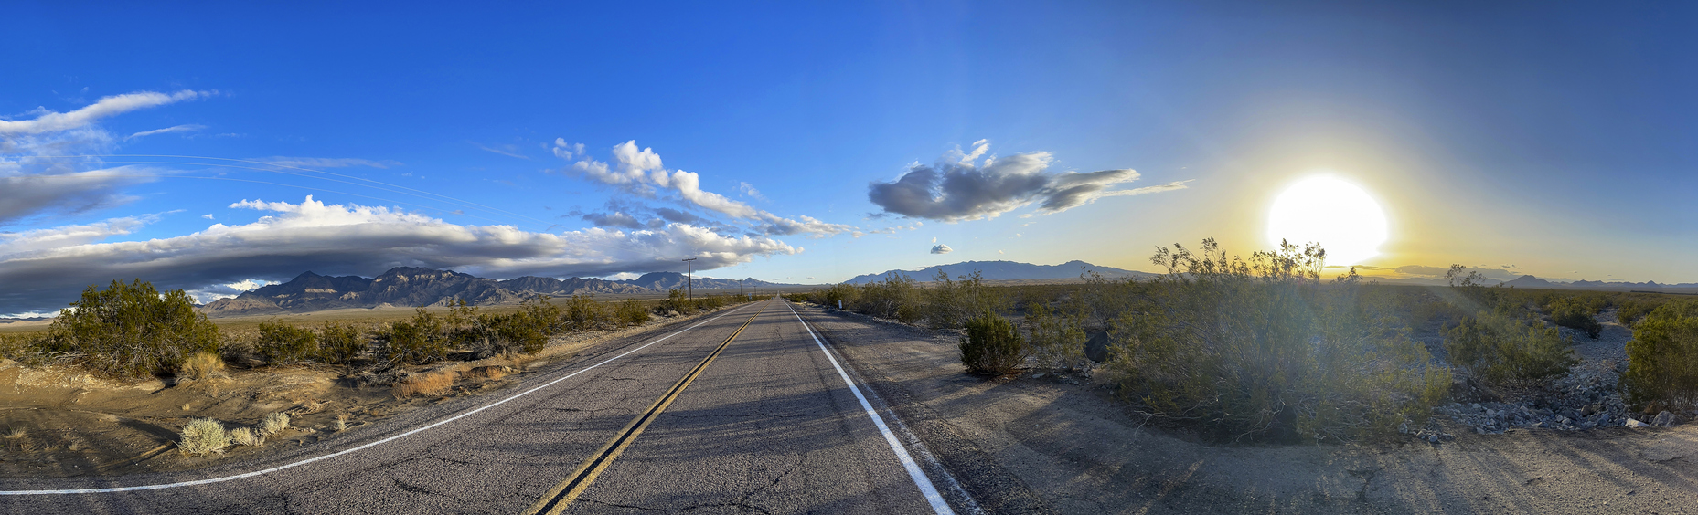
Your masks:
{"label": "green desert shrub cut off by the right picture edge", "polygon": [[1664,303],[1633,325],[1622,386],[1637,408],[1698,408],[1698,302]]}

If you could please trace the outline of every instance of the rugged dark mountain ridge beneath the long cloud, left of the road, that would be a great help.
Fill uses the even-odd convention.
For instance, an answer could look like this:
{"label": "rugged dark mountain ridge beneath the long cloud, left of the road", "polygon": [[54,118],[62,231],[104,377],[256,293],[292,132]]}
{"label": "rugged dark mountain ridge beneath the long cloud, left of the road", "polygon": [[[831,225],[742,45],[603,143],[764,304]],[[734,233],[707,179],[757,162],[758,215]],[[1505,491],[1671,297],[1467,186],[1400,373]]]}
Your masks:
{"label": "rugged dark mountain ridge beneath the long cloud, left of the road", "polygon": [[[452,269],[392,268],[375,278],[323,276],[302,273],[294,280],[243,291],[200,307],[207,315],[301,313],[341,308],[424,307],[465,300],[470,305],[518,303],[537,295],[571,296],[593,293],[664,293],[684,288],[684,274],[661,271],[637,280],[608,281],[596,278],[489,280]],[[795,286],[761,280],[694,278],[696,290],[735,290],[745,286]]]}

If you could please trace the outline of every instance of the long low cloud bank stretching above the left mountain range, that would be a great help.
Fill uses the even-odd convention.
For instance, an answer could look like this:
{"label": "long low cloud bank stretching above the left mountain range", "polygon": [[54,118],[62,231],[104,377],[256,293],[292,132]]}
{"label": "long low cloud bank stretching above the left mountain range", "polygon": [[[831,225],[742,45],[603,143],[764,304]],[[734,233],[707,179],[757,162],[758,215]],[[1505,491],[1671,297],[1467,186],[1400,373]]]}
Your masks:
{"label": "long low cloud bank stretching above the left mountain range", "polygon": [[[233,208],[270,212],[253,224],[149,241],[92,242],[131,230],[59,227],[20,232],[0,251],[0,312],[65,305],[88,285],[141,278],[160,288],[211,291],[207,285],[284,280],[301,271],[372,276],[394,266],[452,268],[511,278],[604,276],[671,269],[698,258],[696,269],[801,252],[769,237],[727,237],[667,224],[644,230],[599,227],[547,234],[511,225],[457,225],[387,207],[243,200]],[[82,234],[82,235],[76,235]],[[58,239],[58,241],[54,241]]]}

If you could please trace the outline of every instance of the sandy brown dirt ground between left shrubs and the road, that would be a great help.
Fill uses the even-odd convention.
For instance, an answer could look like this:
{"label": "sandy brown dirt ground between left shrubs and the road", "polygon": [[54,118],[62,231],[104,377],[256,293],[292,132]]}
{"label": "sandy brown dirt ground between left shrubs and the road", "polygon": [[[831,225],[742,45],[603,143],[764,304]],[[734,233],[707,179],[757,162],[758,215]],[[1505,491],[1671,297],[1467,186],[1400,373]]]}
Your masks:
{"label": "sandy brown dirt ground between left shrubs and the road", "polygon": [[[346,371],[336,366],[258,368],[226,371],[224,376],[202,381],[166,383],[107,381],[73,368],[31,369],[0,359],[0,476],[127,474],[192,469],[253,457],[285,446],[333,439],[338,435],[338,418],[343,418],[346,432],[358,432],[377,418],[452,396],[509,388],[526,368],[569,359],[603,341],[703,315],[708,313],[655,317],[649,325],[625,330],[574,332],[550,341],[542,354],[521,356],[518,361],[494,357],[408,368],[414,373],[440,369],[462,373],[445,396],[397,398],[389,386],[358,386],[357,381],[343,378]],[[324,317],[335,313],[316,315],[316,318]],[[514,374],[503,378],[464,374],[481,366],[508,366]],[[209,456],[177,452],[178,430],[190,418],[216,418],[226,429],[238,429],[258,427],[270,413],[289,413],[290,429],[267,437],[263,446],[233,446],[222,454]]]}

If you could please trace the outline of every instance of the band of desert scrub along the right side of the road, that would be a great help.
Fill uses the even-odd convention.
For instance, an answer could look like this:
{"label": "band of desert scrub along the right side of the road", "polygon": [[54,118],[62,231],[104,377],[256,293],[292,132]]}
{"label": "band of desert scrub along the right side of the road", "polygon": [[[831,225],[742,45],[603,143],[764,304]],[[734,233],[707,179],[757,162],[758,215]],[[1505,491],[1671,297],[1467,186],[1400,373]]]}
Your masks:
{"label": "band of desert scrub along the right side of the road", "polygon": [[1596,339],[1611,308],[1635,329],[1630,398],[1698,401],[1698,308],[1666,295],[1486,286],[1464,266],[1437,288],[1353,271],[1321,280],[1324,259],[1290,244],[1228,256],[1211,239],[1158,249],[1151,263],[1167,273],[1153,280],[992,286],[893,273],[803,298],[958,332],[968,373],[1088,373],[1153,420],[1217,440],[1355,440],[1421,427],[1460,383],[1538,391],[1571,371],[1577,339]]}

